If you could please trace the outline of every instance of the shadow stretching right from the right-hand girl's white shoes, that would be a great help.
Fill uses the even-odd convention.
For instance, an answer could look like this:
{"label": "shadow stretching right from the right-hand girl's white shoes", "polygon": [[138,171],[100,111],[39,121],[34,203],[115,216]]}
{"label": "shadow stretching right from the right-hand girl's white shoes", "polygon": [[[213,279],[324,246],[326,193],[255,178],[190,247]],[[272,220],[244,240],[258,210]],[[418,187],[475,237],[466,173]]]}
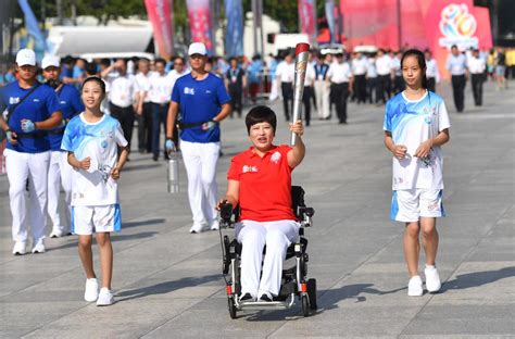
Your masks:
{"label": "shadow stretching right from the right-hand girl's white shoes", "polygon": [[457,275],[455,279],[443,282],[440,293],[448,290],[466,289],[494,282],[504,278],[515,276],[515,266],[504,267],[497,271],[474,272]]}

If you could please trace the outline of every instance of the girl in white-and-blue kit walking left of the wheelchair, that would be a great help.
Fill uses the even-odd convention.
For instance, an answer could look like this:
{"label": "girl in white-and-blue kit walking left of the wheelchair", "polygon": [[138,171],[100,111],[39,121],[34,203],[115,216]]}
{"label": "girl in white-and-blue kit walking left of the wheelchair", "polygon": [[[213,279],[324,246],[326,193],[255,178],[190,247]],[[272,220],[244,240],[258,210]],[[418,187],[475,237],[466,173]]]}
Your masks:
{"label": "girl in white-and-blue kit walking left of the wheelchair", "polygon": [[[105,96],[104,81],[96,76],[83,83],[81,98],[86,110],[70,121],[61,148],[68,152],[74,167],[72,193],[72,231],[78,235],[78,253],[86,272],[86,301],[97,305],[114,302],[111,292],[113,271],[112,231],[122,227],[116,180],[127,160],[127,140],[120,122],[100,111]],[[118,147],[120,159],[117,159]],[[100,250],[102,288],[93,271],[92,233]]]}

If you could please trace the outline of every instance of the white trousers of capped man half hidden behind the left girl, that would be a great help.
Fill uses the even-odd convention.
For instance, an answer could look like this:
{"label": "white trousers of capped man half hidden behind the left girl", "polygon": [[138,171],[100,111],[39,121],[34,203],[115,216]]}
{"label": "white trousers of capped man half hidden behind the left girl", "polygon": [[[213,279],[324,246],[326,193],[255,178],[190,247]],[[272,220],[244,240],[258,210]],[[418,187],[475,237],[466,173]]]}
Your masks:
{"label": "white trousers of capped man half hidden behind the left girl", "polygon": [[[68,164],[67,152],[51,151],[48,170],[48,215],[52,221],[53,233],[66,234],[70,230],[72,214],[72,176],[73,167]],[[64,214],[60,209],[60,188],[64,190]]]}

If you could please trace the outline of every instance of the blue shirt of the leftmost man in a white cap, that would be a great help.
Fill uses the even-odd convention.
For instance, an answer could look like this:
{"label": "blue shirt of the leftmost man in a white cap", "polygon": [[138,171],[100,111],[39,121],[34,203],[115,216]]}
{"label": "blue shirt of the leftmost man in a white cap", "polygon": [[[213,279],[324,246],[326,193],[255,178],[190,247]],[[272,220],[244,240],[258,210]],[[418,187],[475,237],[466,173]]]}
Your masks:
{"label": "blue shirt of the leftmost man in a white cap", "polygon": [[[11,83],[0,88],[0,112],[11,108],[22,100],[30,89],[20,87],[18,81]],[[22,131],[22,120],[30,120],[34,123],[43,122],[53,112],[61,111],[58,96],[53,88],[40,85],[26,98],[11,114],[9,128],[18,136],[17,143],[8,142],[8,149],[23,153],[39,153],[50,150],[50,141],[46,130]]]}

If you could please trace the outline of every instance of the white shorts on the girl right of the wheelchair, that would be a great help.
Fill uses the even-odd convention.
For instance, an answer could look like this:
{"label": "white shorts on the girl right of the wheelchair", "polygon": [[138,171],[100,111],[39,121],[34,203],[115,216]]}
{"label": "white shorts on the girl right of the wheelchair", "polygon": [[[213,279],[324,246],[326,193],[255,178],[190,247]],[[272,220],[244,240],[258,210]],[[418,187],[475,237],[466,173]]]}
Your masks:
{"label": "white shorts on the girl right of the wheelchair", "polygon": [[420,217],[445,216],[441,189],[401,189],[393,191],[390,218],[397,222],[414,223]]}

